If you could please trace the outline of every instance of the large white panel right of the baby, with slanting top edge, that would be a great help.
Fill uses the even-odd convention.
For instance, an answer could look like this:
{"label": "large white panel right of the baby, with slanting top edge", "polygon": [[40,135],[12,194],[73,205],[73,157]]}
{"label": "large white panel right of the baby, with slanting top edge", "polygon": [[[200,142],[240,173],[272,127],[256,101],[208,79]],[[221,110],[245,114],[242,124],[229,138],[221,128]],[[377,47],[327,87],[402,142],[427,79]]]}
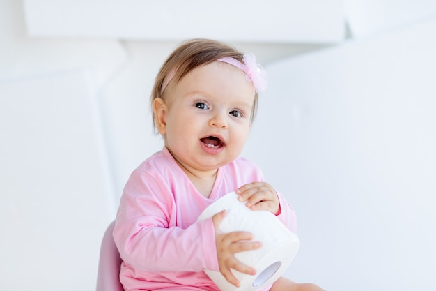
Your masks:
{"label": "large white panel right of the baby, with slanting top edge", "polygon": [[287,275],[436,289],[436,21],[267,66],[244,154],[297,212]]}

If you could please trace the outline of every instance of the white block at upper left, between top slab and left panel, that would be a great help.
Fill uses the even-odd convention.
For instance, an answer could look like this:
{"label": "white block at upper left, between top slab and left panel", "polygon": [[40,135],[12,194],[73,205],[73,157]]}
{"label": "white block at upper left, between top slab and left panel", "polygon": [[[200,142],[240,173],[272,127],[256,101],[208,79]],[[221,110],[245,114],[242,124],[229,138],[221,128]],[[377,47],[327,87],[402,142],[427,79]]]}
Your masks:
{"label": "white block at upper left, between top slab and left panel", "polygon": [[0,7],[0,80],[86,69],[93,87],[102,87],[127,61],[114,40],[28,38],[21,1],[2,0]]}

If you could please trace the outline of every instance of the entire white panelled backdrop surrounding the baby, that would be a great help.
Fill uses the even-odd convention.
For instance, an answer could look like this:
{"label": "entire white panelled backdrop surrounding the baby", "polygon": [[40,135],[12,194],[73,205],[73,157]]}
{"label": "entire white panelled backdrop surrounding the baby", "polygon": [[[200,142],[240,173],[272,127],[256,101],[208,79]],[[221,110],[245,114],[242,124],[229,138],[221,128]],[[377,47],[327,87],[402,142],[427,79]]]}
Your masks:
{"label": "entire white panelled backdrop surrounding the baby", "polygon": [[[286,276],[327,290],[435,290],[435,4],[319,1],[274,2],[287,5],[281,22],[256,14],[274,43],[247,27],[223,37],[269,73],[244,155],[297,211],[302,247]],[[98,1],[0,0],[1,290],[95,289],[123,184],[162,147],[153,78],[181,38],[219,36],[151,25],[157,40],[128,17],[143,1],[129,3],[111,1],[102,17]]]}

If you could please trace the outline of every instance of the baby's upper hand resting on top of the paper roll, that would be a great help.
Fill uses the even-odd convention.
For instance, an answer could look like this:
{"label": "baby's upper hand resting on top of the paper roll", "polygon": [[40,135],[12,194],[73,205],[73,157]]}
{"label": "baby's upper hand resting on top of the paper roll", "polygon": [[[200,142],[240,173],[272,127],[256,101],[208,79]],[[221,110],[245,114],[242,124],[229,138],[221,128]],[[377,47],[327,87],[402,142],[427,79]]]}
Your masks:
{"label": "baby's upper hand resting on top of the paper roll", "polygon": [[252,210],[267,210],[274,215],[280,213],[279,197],[270,184],[253,182],[236,189],[238,200],[247,201],[246,205]]}

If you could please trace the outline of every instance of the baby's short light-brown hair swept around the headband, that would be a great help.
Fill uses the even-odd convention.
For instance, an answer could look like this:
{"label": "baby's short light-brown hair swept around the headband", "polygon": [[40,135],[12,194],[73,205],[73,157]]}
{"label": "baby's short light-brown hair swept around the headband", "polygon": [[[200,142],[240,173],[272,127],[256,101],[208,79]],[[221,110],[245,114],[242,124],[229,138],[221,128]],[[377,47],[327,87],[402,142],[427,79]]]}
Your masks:
{"label": "baby's short light-brown hair swept around the headband", "polygon": [[[162,98],[166,103],[169,102],[166,98],[166,92],[169,91],[169,87],[174,82],[179,82],[182,77],[185,77],[187,73],[198,68],[200,66],[205,66],[212,63],[212,61],[217,61],[218,59],[224,57],[231,57],[243,63],[242,59],[244,54],[239,52],[230,45],[226,43],[221,43],[217,40],[209,40],[205,38],[195,38],[192,40],[185,40],[169,55],[164,64],[157,73],[155,85],[153,86],[153,91],[151,92],[150,98],[150,108],[153,112],[153,101],[156,98]],[[169,81],[169,84],[164,84],[166,82],[168,75],[174,74],[174,76]],[[258,105],[258,93],[256,91],[254,95],[253,108],[251,110],[251,123],[254,121],[256,116]],[[156,130],[155,114],[153,112],[153,130]]]}

